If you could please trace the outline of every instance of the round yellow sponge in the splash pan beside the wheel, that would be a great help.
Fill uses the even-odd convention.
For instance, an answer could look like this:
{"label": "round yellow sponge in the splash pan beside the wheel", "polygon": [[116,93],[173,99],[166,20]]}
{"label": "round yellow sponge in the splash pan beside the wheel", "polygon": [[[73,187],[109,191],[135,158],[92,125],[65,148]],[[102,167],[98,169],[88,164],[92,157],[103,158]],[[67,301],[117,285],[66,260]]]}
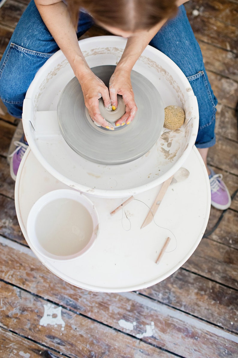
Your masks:
{"label": "round yellow sponge in the splash pan beside the wheel", "polygon": [[182,126],[185,119],[183,108],[178,106],[168,106],[164,108],[164,127],[168,129],[178,129]]}

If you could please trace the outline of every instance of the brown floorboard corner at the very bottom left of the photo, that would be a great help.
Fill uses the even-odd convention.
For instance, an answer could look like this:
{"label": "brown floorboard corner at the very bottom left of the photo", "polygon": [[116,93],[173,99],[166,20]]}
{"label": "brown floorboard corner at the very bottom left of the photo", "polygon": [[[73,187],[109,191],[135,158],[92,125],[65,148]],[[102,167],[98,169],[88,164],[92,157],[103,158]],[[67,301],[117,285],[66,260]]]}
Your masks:
{"label": "brown floorboard corner at the very bottom left of the photo", "polygon": [[51,349],[0,328],[0,357],[60,358],[62,355],[56,354]]}

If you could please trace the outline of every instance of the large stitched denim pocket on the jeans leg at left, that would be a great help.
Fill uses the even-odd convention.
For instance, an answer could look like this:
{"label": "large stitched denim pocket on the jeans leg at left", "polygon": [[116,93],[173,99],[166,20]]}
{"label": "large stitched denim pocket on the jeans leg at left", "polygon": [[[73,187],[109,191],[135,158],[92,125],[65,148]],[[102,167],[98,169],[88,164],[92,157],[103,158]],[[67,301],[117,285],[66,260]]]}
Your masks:
{"label": "large stitched denim pocket on the jeans leg at left", "polygon": [[0,97],[6,103],[23,103],[38,69],[52,54],[11,43],[0,68]]}

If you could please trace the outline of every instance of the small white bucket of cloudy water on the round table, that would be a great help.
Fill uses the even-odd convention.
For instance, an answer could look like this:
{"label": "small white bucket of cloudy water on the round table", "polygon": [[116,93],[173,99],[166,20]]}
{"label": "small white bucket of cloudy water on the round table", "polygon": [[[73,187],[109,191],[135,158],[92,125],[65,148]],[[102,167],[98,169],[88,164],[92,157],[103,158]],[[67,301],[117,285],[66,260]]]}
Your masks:
{"label": "small white bucket of cloudy water on the round table", "polygon": [[86,253],[99,232],[94,204],[72,189],[43,195],[27,218],[27,235],[33,251],[54,261],[73,260]]}

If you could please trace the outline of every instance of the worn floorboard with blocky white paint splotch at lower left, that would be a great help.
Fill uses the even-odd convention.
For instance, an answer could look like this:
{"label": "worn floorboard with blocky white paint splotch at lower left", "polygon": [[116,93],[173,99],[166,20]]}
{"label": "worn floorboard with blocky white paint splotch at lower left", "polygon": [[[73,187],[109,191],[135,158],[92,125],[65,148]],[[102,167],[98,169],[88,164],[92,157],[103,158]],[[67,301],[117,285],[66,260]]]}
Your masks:
{"label": "worn floorboard with blocky white paint splotch at lower left", "polygon": [[173,357],[158,347],[4,282],[0,282],[0,299],[2,327],[67,357]]}

